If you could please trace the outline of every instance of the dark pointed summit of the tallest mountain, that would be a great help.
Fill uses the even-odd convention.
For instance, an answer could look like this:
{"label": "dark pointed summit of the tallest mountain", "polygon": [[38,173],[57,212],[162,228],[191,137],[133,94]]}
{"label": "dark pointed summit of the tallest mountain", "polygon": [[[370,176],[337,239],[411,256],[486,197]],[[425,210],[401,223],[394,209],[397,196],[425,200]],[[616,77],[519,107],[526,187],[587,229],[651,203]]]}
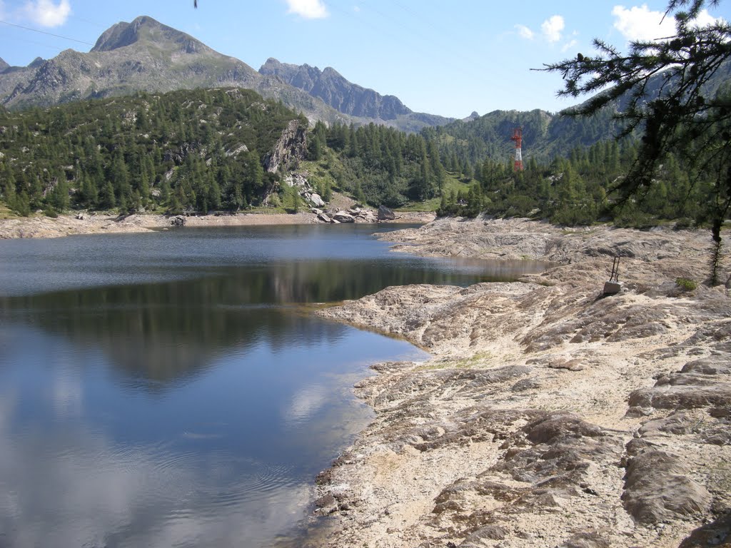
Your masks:
{"label": "dark pointed summit of the tallest mountain", "polygon": [[175,45],[186,53],[208,50],[207,46],[189,34],[163,25],[148,15],[140,15],[132,23],[122,21],[108,28],[96,40],[96,44],[91,48],[91,51],[111,51],[141,41]]}

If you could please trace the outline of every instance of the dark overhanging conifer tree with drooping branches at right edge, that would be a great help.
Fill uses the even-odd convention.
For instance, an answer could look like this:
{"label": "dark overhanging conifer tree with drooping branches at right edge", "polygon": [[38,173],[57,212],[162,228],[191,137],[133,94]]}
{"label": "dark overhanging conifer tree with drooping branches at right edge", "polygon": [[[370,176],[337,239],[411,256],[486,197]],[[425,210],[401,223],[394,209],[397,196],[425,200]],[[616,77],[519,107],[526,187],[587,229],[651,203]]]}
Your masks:
{"label": "dark overhanging conifer tree with drooping branches at right edge", "polygon": [[[623,134],[643,131],[637,159],[614,187],[620,204],[654,186],[668,152],[683,157],[698,178],[713,181],[711,200],[703,210],[711,224],[714,284],[719,281],[721,227],[731,210],[731,94],[723,89],[708,94],[705,84],[731,58],[731,23],[720,19],[698,26],[696,19],[702,9],[718,4],[719,0],[670,0],[665,15],[675,18],[672,37],[631,42],[628,53],[595,39],[597,56],[579,53],[545,68],[564,78],[559,95],[577,97],[613,86],[577,107],[575,115],[598,113],[621,99]],[[654,96],[648,95],[651,78],[660,83]]]}

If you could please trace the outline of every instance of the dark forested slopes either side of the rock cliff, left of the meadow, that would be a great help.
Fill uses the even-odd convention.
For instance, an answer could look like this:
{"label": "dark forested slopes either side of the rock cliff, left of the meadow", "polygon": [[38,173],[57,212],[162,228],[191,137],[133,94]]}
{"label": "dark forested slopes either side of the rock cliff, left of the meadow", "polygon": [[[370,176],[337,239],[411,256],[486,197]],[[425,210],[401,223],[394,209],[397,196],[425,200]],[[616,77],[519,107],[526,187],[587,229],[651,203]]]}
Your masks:
{"label": "dark forested slopes either side of the rock cliff, left of the meadow", "polygon": [[307,126],[281,102],[239,88],[3,109],[0,199],[23,216],[69,208],[298,210],[306,203],[281,181],[308,161],[322,164],[311,164],[311,181],[324,197],[335,188],[398,206],[439,193],[444,170],[424,137],[322,123],[308,136]]}

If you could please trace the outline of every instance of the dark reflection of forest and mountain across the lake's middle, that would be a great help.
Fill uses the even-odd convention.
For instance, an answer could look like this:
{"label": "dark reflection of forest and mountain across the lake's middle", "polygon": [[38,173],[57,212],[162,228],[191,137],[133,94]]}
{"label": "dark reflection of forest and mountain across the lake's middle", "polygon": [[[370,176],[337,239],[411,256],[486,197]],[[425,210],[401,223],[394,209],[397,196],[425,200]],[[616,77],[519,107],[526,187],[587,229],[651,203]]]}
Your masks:
{"label": "dark reflection of forest and mountain across the lake's middle", "polygon": [[[246,352],[262,340],[272,351],[308,347],[341,332],[298,313],[295,303],[354,299],[406,283],[464,285],[487,277],[474,269],[474,264],[446,268],[444,262],[414,259],[396,267],[387,259],[225,267],[192,280],[0,297],[0,319],[42,327],[79,346],[97,346],[119,370],[135,381],[151,381],[154,389],[211,366],[231,349]],[[515,267],[500,274],[515,278]]]}

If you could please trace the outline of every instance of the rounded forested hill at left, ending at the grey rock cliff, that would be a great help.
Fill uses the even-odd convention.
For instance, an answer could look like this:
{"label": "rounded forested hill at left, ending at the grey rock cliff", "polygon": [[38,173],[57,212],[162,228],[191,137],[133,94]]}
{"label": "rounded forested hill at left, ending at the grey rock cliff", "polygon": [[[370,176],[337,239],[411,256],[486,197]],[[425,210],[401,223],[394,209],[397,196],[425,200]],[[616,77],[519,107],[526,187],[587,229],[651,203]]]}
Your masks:
{"label": "rounded forested hill at left, ending at the grey rock cliff", "polygon": [[0,113],[4,201],[70,208],[238,209],[262,199],[265,156],[289,121],[242,89],[174,91]]}

